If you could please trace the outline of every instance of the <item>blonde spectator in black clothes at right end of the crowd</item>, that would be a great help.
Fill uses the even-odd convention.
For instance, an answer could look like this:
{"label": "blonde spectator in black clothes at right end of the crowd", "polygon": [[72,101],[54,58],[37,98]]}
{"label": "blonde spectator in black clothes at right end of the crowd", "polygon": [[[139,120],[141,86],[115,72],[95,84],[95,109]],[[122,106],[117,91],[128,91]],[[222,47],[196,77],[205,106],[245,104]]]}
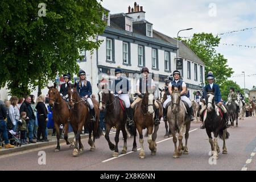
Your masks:
{"label": "blonde spectator in black clothes at right end of the crowd", "polygon": [[[46,101],[46,96],[40,95],[36,101],[36,109],[38,110],[38,140],[37,142],[49,142],[46,139],[46,123],[48,121],[47,108],[44,102]],[[42,140],[40,139],[42,134]]]}

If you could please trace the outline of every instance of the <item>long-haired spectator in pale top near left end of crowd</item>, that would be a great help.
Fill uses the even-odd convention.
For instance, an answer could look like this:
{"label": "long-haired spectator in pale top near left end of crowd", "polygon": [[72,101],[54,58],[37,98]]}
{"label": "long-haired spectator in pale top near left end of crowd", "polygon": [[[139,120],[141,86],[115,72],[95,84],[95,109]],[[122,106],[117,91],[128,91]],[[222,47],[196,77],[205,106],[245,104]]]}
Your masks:
{"label": "long-haired spectator in pale top near left end of crowd", "polygon": [[16,132],[16,129],[18,127],[18,121],[20,119],[20,114],[19,114],[19,108],[18,108],[18,97],[13,96],[10,99],[11,106],[10,110],[13,111],[13,114],[10,113],[10,118],[11,121],[13,121],[13,131]]}

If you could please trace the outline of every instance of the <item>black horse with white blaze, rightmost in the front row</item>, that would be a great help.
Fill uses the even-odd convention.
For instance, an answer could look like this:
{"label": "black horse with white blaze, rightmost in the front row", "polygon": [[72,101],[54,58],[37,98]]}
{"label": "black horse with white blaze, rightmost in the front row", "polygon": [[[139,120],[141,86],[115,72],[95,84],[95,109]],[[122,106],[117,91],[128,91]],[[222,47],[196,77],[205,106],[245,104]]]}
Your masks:
{"label": "black horse with white blaze, rightmost in the front row", "polygon": [[[229,138],[229,133],[226,128],[226,121],[223,117],[220,108],[214,102],[214,93],[208,92],[205,97],[205,105],[207,109],[201,115],[204,126],[209,137],[210,147],[212,149],[213,159],[218,159],[220,147],[218,146],[218,137],[223,140],[222,154],[228,154],[226,149],[226,139]],[[226,113],[228,115],[228,113]],[[212,133],[214,140],[212,140]]]}

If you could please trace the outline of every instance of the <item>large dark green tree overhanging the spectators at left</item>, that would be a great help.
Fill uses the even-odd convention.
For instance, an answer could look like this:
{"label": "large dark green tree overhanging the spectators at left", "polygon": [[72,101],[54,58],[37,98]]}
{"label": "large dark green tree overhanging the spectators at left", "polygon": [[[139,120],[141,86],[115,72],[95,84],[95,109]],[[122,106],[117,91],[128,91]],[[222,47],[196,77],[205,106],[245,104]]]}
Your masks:
{"label": "large dark green tree overhanging the spectators at left", "polygon": [[[38,8],[39,2],[46,4]],[[97,49],[107,14],[96,0],[0,1],[0,87],[23,96],[57,73],[75,73],[80,50]]]}

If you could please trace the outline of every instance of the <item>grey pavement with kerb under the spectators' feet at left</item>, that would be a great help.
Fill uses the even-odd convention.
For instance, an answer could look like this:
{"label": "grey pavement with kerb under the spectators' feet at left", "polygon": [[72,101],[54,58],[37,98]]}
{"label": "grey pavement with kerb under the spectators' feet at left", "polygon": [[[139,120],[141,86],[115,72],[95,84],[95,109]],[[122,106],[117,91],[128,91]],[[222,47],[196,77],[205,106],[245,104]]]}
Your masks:
{"label": "grey pavement with kerb under the spectators' feet at left", "polygon": [[[81,139],[87,138],[89,134],[82,134]],[[44,146],[57,146],[57,138],[56,136],[52,137],[52,134],[48,133],[47,138],[49,139],[49,142],[36,142],[36,143],[30,143],[30,144],[25,144],[22,146],[14,147],[14,148],[0,148],[0,156],[3,154],[10,154],[13,152],[19,152],[19,151],[24,151],[24,150],[29,150],[32,148],[38,148],[38,147],[44,147]],[[71,142],[74,138],[74,133],[68,133],[68,140]],[[64,139],[60,139],[60,143],[65,143],[66,141]]]}

